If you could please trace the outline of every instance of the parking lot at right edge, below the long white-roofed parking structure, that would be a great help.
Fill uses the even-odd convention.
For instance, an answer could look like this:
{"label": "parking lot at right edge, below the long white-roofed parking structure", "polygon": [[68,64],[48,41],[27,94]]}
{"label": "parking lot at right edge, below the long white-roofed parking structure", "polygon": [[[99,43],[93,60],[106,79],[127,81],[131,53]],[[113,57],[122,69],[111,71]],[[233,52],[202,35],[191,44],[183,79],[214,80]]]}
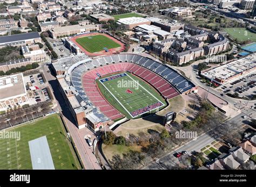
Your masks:
{"label": "parking lot at right edge, below the long white-roofed parking structure", "polygon": [[238,80],[232,81],[231,83],[225,84],[220,87],[223,93],[238,93],[239,97],[248,97],[252,98],[252,95],[256,93],[256,74],[252,73],[241,77]]}

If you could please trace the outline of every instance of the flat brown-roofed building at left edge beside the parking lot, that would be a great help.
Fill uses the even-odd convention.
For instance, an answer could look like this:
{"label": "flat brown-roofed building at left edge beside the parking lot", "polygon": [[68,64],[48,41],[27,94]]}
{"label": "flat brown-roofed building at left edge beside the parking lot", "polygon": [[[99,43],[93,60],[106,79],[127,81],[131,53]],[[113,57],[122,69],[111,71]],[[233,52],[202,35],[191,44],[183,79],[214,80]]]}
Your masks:
{"label": "flat brown-roofed building at left edge beside the parking lot", "polygon": [[0,77],[0,111],[29,104],[23,74]]}

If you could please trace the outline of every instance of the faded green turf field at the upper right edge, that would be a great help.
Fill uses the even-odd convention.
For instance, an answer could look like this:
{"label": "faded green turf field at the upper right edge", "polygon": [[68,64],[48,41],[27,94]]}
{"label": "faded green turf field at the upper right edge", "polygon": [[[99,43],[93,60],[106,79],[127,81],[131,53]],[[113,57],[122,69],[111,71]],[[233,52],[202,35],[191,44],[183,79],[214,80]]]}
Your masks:
{"label": "faded green turf field at the upper right edge", "polygon": [[225,31],[233,40],[237,39],[238,42],[246,40],[256,41],[256,34],[246,28],[225,28]]}

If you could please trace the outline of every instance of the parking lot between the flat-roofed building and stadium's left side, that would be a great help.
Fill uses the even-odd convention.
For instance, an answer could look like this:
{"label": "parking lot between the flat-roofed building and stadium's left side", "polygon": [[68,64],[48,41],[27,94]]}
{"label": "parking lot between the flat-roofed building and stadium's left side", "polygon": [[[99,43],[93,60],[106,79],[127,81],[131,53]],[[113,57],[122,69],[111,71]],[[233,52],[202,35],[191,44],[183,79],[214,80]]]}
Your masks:
{"label": "parking lot between the flat-roofed building and stadium's left side", "polygon": [[45,88],[41,74],[25,76],[24,81],[31,105],[50,100],[48,90]]}

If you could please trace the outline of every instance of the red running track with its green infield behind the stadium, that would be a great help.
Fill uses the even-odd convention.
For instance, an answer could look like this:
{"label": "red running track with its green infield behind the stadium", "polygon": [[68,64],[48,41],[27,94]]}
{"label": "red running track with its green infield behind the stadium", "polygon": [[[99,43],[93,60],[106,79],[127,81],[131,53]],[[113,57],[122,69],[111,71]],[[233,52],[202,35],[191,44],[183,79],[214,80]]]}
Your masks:
{"label": "red running track with its green infield behind the stadium", "polygon": [[89,56],[111,55],[125,49],[122,42],[104,33],[76,35],[70,40]]}

